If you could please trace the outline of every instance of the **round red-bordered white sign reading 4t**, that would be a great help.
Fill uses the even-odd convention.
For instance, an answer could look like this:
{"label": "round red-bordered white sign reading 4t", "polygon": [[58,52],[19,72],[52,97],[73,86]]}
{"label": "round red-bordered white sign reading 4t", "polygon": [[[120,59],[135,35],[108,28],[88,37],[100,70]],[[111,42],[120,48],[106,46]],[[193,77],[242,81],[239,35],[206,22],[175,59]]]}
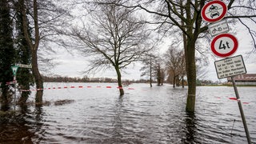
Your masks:
{"label": "round red-bordered white sign reading 4t", "polygon": [[229,57],[238,50],[238,39],[232,34],[219,34],[210,43],[210,49],[218,57]]}

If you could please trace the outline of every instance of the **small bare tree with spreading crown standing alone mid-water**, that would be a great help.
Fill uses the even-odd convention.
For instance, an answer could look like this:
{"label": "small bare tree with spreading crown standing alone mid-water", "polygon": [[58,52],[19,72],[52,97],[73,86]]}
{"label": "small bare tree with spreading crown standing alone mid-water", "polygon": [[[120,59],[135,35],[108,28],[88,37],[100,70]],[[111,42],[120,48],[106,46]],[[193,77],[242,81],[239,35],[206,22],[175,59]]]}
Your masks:
{"label": "small bare tree with spreading crown standing alone mid-water", "polygon": [[117,0],[108,2],[108,5],[97,2],[97,8],[90,11],[90,22],[73,27],[69,35],[83,54],[91,56],[86,72],[114,68],[122,95],[121,70],[140,61],[154,46],[150,43],[150,31],[135,10],[115,5]]}

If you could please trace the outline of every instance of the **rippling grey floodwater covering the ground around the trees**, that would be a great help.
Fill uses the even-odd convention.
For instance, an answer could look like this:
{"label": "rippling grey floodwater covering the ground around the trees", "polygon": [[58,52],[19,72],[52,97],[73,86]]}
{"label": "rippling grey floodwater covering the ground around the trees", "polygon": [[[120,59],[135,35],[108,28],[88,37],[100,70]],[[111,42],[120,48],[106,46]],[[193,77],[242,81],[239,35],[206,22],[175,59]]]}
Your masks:
{"label": "rippling grey floodwater covering the ground around the trees", "polygon": [[[15,118],[1,118],[0,143],[247,143],[232,86],[198,87],[194,114],[185,112],[186,87],[132,84],[122,98],[114,83],[45,87],[48,106],[17,107]],[[256,88],[238,92],[256,142]],[[59,100],[70,102],[54,105]]]}

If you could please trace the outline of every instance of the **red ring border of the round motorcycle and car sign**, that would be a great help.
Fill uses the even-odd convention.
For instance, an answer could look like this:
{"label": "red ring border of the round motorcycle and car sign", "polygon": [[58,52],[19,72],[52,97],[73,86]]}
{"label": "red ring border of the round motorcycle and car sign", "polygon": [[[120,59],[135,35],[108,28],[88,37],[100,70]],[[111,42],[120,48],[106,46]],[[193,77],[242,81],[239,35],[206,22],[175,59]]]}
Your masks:
{"label": "red ring border of the round motorcycle and car sign", "polygon": [[[206,16],[206,9],[209,7],[209,6],[213,6],[213,4],[219,4],[222,6],[222,14],[218,14],[218,17],[217,18],[209,18]],[[208,2],[206,3],[205,6],[202,7],[202,11],[201,11],[201,15],[202,15],[202,18],[206,21],[206,22],[217,22],[219,20],[221,20],[222,18],[225,17],[226,15],[226,12],[227,12],[227,7],[226,7],[226,4],[222,1],[211,1],[211,2]]]}

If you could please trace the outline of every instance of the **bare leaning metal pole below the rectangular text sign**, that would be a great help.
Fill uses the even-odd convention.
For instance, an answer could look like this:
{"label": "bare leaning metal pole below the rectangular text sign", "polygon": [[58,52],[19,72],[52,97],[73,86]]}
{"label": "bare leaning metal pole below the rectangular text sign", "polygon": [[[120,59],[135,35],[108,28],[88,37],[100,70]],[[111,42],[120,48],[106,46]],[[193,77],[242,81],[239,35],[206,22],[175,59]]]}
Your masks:
{"label": "bare leaning metal pole below the rectangular text sign", "polygon": [[242,104],[241,104],[240,97],[239,97],[239,94],[238,94],[238,88],[235,85],[234,77],[231,77],[231,79],[232,79],[232,83],[233,83],[233,86],[234,86],[234,93],[235,93],[235,96],[236,96],[237,101],[238,101],[238,107],[239,107],[240,114],[241,114],[241,117],[242,117],[242,123],[243,123],[243,126],[244,126],[245,131],[246,131],[247,142],[250,144],[251,143],[250,133],[249,133],[249,130],[248,130],[248,127],[247,127],[247,124],[246,124],[245,114],[243,113],[243,110],[242,110]]}

